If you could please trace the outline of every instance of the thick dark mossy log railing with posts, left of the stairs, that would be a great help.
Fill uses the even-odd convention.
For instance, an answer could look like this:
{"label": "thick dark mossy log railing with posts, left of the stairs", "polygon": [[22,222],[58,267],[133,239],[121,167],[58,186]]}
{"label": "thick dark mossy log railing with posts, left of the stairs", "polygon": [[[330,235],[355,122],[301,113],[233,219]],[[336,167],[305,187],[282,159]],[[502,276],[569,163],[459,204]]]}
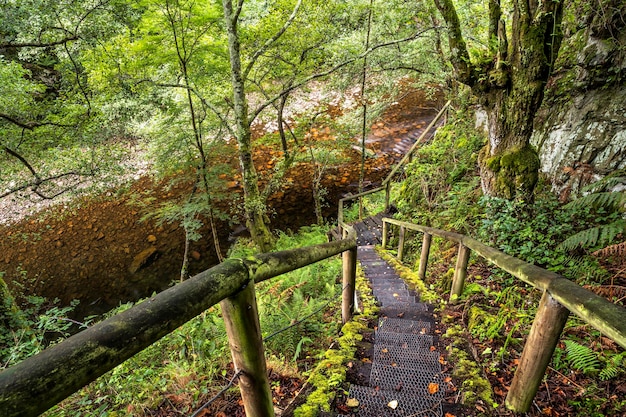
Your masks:
{"label": "thick dark mossy log railing with posts, left of the stairs", "polygon": [[254,284],[344,255],[342,320],[354,311],[356,234],[223,263],[0,372],[0,415],[36,416],[220,303],[246,415],[274,415]]}

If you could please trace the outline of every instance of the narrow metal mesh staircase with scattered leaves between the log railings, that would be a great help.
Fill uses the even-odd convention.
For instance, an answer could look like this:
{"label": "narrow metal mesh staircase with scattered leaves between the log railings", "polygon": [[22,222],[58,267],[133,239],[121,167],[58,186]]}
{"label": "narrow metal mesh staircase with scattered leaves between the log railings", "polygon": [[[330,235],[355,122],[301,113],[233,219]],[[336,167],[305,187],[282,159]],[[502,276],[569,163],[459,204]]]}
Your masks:
{"label": "narrow metal mesh staircase with scattered leaves between the log railings", "polygon": [[380,218],[354,225],[358,260],[381,308],[369,383],[350,387],[349,402],[358,405],[347,415],[442,416],[447,383],[435,348],[433,308],[421,303],[419,294],[374,250],[381,236]]}

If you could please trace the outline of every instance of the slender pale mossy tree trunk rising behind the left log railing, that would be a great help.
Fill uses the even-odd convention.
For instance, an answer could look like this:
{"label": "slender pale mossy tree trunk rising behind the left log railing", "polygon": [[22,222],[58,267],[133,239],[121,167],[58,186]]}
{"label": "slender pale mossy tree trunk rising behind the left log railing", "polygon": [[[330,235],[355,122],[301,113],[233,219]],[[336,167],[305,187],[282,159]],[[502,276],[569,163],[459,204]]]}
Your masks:
{"label": "slender pale mossy tree trunk rising behind the left log railing", "polygon": [[223,0],[224,21],[228,32],[228,52],[230,54],[231,83],[233,86],[233,107],[235,111],[237,145],[239,147],[239,164],[244,192],[244,211],[246,226],[252,239],[261,251],[266,252],[272,245],[272,234],[268,227],[265,201],[259,192],[258,175],[252,160],[250,121],[248,119],[248,101],[245,94],[244,79],[241,69],[241,55],[237,24],[240,8],[233,9],[232,0]]}

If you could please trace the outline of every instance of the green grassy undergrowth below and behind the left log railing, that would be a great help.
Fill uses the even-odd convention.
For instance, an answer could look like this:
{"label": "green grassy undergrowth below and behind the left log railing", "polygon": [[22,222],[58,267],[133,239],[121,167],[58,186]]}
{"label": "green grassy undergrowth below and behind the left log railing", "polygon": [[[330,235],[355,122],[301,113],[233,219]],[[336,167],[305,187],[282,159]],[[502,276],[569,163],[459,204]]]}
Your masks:
{"label": "green grassy undergrowth below and behind the left log railing", "polygon": [[[325,228],[307,227],[300,233],[281,234],[277,250],[325,241]],[[251,244],[242,242],[231,257],[250,255],[253,253],[251,248]],[[341,323],[341,285],[337,283],[340,270],[341,260],[333,257],[256,286],[262,334],[267,338],[268,368],[281,375],[304,378],[305,373],[315,366],[319,352],[325,351],[336,339]],[[43,315],[35,315],[35,311],[45,306],[44,301],[33,300],[37,310],[15,310],[10,317],[3,317],[2,324],[10,325],[12,330],[2,332],[10,342],[10,349],[2,350],[3,363],[11,365],[18,356],[23,359],[37,353],[43,347],[39,339],[48,335],[50,329],[63,333],[64,327],[58,323],[65,321],[51,321],[50,318],[64,317],[68,311],[52,307]],[[132,306],[132,303],[121,305],[102,319]],[[19,323],[15,322],[17,319]],[[9,320],[12,321],[9,323]],[[50,327],[47,323],[57,325]],[[281,329],[287,330],[278,332]],[[190,414],[225,385],[232,373],[224,323],[219,307],[214,306],[45,415],[143,416],[153,415],[163,407]],[[231,391],[229,395],[238,395],[236,388]]]}

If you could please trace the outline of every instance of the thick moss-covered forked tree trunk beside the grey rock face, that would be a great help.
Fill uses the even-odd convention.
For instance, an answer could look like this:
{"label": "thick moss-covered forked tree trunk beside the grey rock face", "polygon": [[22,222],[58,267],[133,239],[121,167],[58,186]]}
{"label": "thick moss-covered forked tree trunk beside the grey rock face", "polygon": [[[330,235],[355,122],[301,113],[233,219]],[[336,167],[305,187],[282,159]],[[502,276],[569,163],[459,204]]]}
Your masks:
{"label": "thick moss-covered forked tree trunk beside the grey rock face", "polygon": [[563,1],[515,0],[509,42],[500,1],[489,0],[488,57],[480,62],[470,59],[452,0],[435,3],[448,25],[456,78],[488,114],[489,140],[479,156],[483,191],[530,200],[540,167],[530,136],[561,43]]}

